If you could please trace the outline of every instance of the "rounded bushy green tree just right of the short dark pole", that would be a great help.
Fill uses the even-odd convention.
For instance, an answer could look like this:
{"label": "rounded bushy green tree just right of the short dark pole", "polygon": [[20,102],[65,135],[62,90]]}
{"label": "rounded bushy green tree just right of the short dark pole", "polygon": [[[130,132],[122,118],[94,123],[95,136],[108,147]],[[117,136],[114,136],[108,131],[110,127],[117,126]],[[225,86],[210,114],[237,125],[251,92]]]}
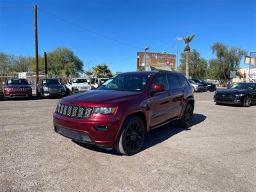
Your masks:
{"label": "rounded bushy green tree just right of the short dark pole", "polygon": [[78,76],[83,72],[83,61],[67,47],[58,47],[47,54],[49,74]]}

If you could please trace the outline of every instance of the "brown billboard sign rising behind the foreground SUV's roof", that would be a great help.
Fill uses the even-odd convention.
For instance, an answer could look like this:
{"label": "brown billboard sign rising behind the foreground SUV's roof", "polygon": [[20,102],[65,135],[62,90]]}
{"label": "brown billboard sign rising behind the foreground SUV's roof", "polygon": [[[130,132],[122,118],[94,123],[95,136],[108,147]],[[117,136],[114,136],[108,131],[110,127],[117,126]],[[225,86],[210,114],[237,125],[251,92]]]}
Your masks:
{"label": "brown billboard sign rising behind the foreground SUV's roof", "polygon": [[175,70],[175,54],[165,54],[157,52],[137,53],[137,70],[145,67],[145,70]]}

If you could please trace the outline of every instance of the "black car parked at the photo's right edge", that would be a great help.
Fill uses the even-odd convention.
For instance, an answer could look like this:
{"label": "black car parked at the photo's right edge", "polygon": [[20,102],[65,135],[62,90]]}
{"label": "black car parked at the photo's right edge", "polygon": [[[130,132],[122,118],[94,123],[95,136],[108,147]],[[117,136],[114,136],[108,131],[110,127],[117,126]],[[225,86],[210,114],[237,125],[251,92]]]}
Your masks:
{"label": "black car parked at the photo's right edge", "polygon": [[232,88],[218,90],[214,95],[216,104],[239,104],[249,107],[256,103],[256,83],[238,83]]}

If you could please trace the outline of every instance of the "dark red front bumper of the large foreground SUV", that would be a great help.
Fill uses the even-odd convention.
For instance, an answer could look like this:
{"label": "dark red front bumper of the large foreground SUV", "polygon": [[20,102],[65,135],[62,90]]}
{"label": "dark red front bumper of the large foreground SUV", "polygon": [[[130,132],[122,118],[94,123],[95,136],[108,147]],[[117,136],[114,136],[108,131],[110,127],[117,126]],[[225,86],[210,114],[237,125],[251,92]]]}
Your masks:
{"label": "dark red front bumper of the large foreground SUV", "polygon": [[[116,115],[97,114],[93,114],[89,119],[82,119],[54,113],[53,124],[54,130],[67,138],[104,148],[115,145],[120,127],[120,121]],[[106,127],[106,130],[97,131],[95,127]]]}

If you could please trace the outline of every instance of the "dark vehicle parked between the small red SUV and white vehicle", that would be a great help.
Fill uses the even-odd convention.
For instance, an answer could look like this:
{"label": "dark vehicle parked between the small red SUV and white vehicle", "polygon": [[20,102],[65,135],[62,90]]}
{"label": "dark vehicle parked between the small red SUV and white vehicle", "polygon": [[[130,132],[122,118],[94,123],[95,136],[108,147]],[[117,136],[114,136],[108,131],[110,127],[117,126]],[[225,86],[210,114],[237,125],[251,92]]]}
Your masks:
{"label": "dark vehicle parked between the small red SUV and white vehicle", "polygon": [[36,92],[41,99],[45,97],[63,97],[66,95],[66,88],[58,79],[44,78],[36,85]]}

